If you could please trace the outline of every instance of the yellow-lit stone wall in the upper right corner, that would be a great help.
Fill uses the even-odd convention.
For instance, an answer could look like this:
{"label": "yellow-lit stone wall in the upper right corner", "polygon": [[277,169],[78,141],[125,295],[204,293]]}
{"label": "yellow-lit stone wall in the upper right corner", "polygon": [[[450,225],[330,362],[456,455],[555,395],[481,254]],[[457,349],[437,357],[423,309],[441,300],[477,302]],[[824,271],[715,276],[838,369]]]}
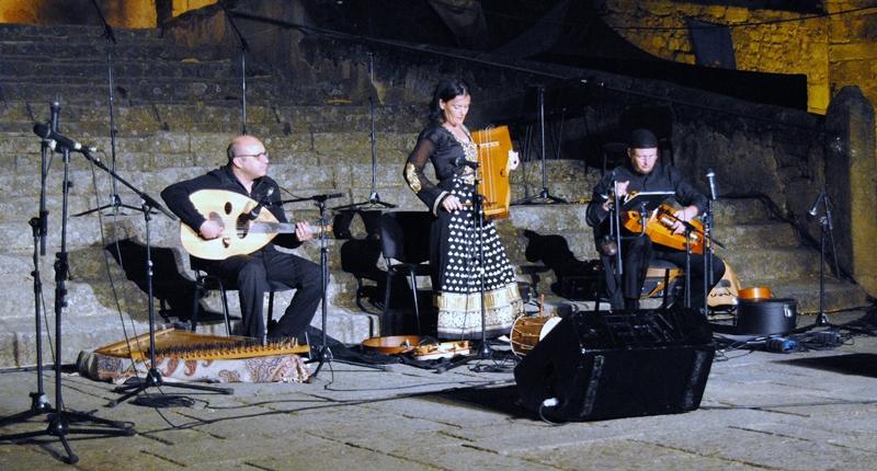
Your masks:
{"label": "yellow-lit stone wall in the upper right corner", "polygon": [[[873,5],[867,1],[824,2],[829,13]],[[857,84],[877,99],[875,10],[812,18],[777,10],[667,0],[605,0],[603,19],[641,49],[669,60],[694,64],[685,20],[730,27],[737,68],[807,74],[808,110],[824,114],[832,94]],[[877,8],[877,7],[875,7]]]}

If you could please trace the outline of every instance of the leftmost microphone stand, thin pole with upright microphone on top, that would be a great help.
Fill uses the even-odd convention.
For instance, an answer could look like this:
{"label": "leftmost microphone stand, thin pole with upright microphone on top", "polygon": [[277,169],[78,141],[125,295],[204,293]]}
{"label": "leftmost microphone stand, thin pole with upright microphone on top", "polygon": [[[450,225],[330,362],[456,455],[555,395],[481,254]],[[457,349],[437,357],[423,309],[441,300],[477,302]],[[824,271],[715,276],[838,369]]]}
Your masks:
{"label": "leftmost microphone stand, thin pole with upright microphone on top", "polygon": [[[52,111],[52,129],[58,129],[58,114],[60,113],[61,105],[58,102],[52,102],[49,105]],[[39,212],[36,217],[31,218],[31,232],[34,238],[34,271],[31,276],[34,278],[34,334],[36,336],[36,392],[31,392],[31,409],[27,411],[13,414],[3,420],[0,420],[0,426],[13,424],[19,422],[26,422],[31,417],[41,414],[50,414],[56,412],[46,398],[46,392],[43,389],[43,322],[42,322],[42,300],[43,300],[43,282],[39,276],[39,256],[46,254],[46,236],[48,233],[48,210],[46,210],[46,179],[48,177],[48,156],[49,156],[49,140],[43,139],[39,145]]]}

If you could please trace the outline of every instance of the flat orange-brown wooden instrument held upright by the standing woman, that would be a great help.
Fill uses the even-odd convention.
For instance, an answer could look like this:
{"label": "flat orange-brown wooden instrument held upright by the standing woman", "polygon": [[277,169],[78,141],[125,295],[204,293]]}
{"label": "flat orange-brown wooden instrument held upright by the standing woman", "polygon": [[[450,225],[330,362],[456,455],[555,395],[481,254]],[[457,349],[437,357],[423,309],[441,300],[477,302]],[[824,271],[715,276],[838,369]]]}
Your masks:
{"label": "flat orange-brown wooden instrument held upright by the standing woman", "polygon": [[478,146],[480,181],[478,193],[485,197],[485,217],[504,219],[509,217],[512,191],[509,174],[517,168],[517,152],[512,149],[508,126],[492,127],[472,133]]}

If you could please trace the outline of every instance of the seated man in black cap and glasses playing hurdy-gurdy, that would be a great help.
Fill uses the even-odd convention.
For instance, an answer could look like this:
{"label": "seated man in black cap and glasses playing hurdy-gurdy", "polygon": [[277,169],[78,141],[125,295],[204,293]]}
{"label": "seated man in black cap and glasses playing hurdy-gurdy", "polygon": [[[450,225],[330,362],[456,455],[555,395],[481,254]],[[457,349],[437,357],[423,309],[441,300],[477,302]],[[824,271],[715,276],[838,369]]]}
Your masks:
{"label": "seated man in black cap and glasses playing hurdy-gurdy", "polygon": [[[670,231],[684,234],[686,223],[702,215],[707,207],[707,197],[697,191],[682,173],[673,166],[663,165],[658,159],[658,139],[648,129],[636,129],[630,134],[627,147],[628,160],[612,172],[606,173],[593,189],[591,203],[588,205],[588,225],[594,228],[594,241],[601,252],[601,262],[606,268],[606,290],[613,310],[637,309],[646,272],[649,263],[656,260],[671,262],[685,267],[684,250],[652,243],[647,236],[636,237],[622,229],[623,276],[615,276],[615,257],[610,256],[612,245],[610,234],[610,211],[614,202],[613,192],[617,192],[619,200],[638,192],[673,192],[681,209],[673,212]],[[617,184],[616,184],[617,182]],[[714,257],[713,286],[725,274],[725,264]],[[704,297],[699,296],[699,287],[704,286],[704,254],[691,254],[691,306],[701,309]],[[709,289],[713,288],[709,286]]]}

